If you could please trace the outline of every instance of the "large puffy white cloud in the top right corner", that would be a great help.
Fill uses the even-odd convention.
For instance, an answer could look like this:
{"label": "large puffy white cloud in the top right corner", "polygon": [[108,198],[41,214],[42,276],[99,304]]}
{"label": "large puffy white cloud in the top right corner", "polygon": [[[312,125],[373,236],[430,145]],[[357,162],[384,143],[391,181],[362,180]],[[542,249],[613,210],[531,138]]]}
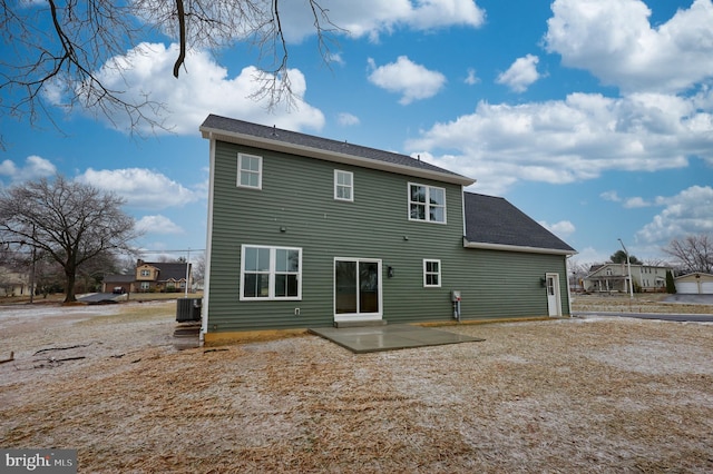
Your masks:
{"label": "large puffy white cloud in the top right corner", "polygon": [[556,0],[551,9],[547,50],[606,85],[673,92],[713,77],[711,0],[695,0],[656,27],[641,0]]}

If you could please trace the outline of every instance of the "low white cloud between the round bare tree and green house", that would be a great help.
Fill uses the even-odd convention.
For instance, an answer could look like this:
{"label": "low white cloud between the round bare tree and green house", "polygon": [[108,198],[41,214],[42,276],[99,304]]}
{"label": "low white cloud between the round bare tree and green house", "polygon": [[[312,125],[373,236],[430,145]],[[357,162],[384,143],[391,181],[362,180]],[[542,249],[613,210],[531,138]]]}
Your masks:
{"label": "low white cloud between the round bare tree and green house", "polygon": [[183,206],[202,198],[202,194],[185,188],[165,175],[145,168],[87,169],[76,178],[118,195],[128,206],[140,209],[163,209]]}

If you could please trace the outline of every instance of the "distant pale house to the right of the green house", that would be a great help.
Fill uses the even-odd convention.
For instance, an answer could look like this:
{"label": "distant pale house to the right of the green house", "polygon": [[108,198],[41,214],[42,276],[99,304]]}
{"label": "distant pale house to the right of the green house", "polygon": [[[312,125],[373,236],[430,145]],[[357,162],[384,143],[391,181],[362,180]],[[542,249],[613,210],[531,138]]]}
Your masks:
{"label": "distant pale house to the right of the green house", "polygon": [[[634,290],[637,287],[644,293],[666,290],[666,271],[672,271],[672,267],[633,264],[631,267]],[[584,289],[588,293],[629,293],[629,288],[626,263],[594,265],[584,278]]]}

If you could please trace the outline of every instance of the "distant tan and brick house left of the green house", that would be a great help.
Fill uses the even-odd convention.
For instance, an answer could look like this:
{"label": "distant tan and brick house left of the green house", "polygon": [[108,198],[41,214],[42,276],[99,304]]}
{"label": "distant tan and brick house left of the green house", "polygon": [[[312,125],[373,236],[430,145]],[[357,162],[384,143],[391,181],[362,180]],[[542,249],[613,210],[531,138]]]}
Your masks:
{"label": "distant tan and brick house left of the green house", "polygon": [[191,267],[192,264],[185,263],[149,263],[139,259],[136,263],[134,275],[107,275],[104,278],[104,292],[184,292],[186,289],[186,274],[189,282],[188,288],[193,284]]}

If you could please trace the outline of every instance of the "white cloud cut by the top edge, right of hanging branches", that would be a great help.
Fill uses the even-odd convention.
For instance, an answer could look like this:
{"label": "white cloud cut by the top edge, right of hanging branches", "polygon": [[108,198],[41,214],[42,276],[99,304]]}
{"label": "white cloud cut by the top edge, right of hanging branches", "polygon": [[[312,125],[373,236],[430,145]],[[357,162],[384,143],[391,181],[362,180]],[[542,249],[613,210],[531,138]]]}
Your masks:
{"label": "white cloud cut by the top edge, right of hanging branches", "polygon": [[[451,26],[477,28],[485,22],[485,11],[475,0],[324,0],[320,4],[348,34],[369,37],[372,41],[398,28],[426,31]],[[283,24],[290,42],[314,34],[312,10],[303,2],[283,2],[281,9],[283,18],[290,18],[290,22]]]}

